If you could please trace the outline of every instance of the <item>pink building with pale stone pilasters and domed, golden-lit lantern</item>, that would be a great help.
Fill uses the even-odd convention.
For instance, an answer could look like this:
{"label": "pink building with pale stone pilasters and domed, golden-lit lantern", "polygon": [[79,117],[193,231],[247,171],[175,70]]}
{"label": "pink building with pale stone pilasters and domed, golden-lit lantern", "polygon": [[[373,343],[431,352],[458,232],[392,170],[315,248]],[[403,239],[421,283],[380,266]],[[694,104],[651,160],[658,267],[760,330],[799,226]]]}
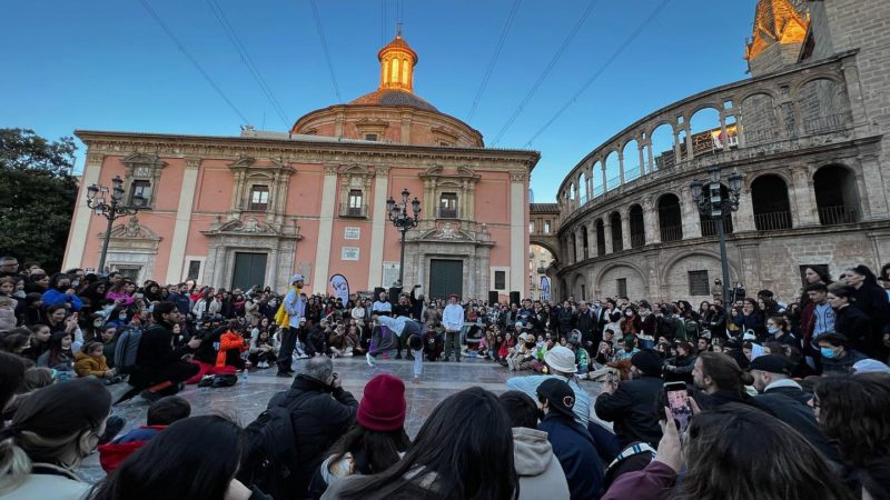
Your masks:
{"label": "pink building with pale stone pilasters and domed, golden-lit lantern", "polygon": [[315,292],[340,273],[352,291],[398,278],[399,232],[386,199],[422,202],[407,234],[405,283],[429,296],[525,293],[528,178],[535,151],[486,149],[482,134],[413,92],[417,54],[396,37],[379,88],[299,118],[289,133],[238,137],[78,130],[87,144],[65,268],[96,267],[105,219],[86,188],[125,180],[151,210],[111,231],[106,266],[137,280]]}

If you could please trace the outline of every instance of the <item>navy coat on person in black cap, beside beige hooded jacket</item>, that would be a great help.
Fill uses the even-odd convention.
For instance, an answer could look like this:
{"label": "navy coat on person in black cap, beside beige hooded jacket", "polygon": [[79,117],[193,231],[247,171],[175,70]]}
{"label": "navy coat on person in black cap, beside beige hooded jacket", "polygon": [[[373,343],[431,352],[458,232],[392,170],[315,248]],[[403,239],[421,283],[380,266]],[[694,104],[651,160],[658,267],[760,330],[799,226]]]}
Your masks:
{"label": "navy coat on person in black cap, beside beige hooded jacket", "polygon": [[571,417],[551,411],[537,426],[537,430],[547,433],[553,454],[565,472],[570,498],[599,499],[603,494],[603,464],[587,429]]}

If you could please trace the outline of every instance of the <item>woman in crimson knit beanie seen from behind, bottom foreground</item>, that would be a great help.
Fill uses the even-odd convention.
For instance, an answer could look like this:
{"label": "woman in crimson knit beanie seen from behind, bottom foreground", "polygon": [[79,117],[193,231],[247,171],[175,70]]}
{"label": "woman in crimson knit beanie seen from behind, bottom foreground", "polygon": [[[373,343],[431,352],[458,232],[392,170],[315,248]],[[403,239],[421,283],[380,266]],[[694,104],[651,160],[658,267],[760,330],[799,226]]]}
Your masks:
{"label": "woman in crimson knit beanie seen from behind, bottom foreground", "polygon": [[405,432],[405,382],[389,373],[368,381],[355,423],[330,448],[309,484],[313,498],[354,474],[373,474],[396,463],[411,446]]}

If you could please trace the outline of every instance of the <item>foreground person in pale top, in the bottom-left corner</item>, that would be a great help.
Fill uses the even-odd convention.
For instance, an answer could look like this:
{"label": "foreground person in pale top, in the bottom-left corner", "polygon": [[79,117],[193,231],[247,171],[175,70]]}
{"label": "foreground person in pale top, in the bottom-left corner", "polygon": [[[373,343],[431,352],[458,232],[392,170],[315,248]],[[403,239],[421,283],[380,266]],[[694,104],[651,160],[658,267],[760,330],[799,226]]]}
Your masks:
{"label": "foreground person in pale top, in the bottom-left corner", "polygon": [[80,500],[90,486],[71,469],[95,450],[110,410],[111,394],[95,379],[30,396],[0,430],[0,499]]}

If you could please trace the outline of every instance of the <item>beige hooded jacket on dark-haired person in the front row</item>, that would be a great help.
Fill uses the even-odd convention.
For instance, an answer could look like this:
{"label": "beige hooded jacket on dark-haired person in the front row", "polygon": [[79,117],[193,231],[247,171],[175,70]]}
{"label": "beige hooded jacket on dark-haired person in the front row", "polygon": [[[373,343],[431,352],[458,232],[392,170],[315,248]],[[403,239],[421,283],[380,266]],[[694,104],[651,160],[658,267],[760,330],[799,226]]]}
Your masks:
{"label": "beige hooded jacket on dark-haired person in the front row", "polygon": [[520,500],[570,498],[565,472],[546,432],[514,427],[513,462],[520,477]]}

